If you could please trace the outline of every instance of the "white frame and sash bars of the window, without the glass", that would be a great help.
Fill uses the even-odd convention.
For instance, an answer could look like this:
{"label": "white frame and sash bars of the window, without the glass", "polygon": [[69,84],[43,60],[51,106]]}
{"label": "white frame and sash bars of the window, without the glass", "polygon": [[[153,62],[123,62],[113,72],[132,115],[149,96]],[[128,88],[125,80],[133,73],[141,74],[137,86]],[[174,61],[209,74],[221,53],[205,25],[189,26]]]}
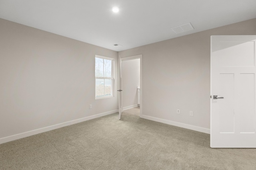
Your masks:
{"label": "white frame and sash bars of the window, without the glass", "polygon": [[[95,75],[95,60],[94,60],[94,75],[95,75],[95,99],[105,99],[105,98],[112,98],[114,97],[114,59],[113,58],[109,58],[109,57],[104,57],[104,56],[100,56],[100,55],[95,55],[95,58],[100,58],[100,59],[106,59],[106,60],[111,60],[112,61],[112,69],[111,69],[111,77],[97,77]],[[103,64],[103,70],[104,70],[104,64]],[[104,97],[96,97],[96,79],[111,79],[112,80],[112,87],[111,87],[111,96],[104,96]]]}

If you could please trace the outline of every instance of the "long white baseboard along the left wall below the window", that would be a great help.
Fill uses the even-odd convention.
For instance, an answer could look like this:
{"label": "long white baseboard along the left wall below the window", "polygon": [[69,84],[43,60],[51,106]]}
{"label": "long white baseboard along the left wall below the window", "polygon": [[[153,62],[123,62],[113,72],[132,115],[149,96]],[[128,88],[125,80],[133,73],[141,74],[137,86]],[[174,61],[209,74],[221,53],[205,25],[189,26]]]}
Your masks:
{"label": "long white baseboard along the left wall below the window", "polygon": [[57,125],[52,125],[52,126],[43,127],[43,128],[40,128],[40,129],[35,129],[35,130],[32,130],[32,131],[28,131],[28,132],[24,132],[24,133],[20,133],[20,134],[16,134],[16,135],[8,136],[8,137],[3,137],[3,138],[0,138],[0,144],[10,142],[10,141],[14,141],[14,140],[17,140],[17,139],[21,139],[21,138],[24,138],[24,137],[36,135],[38,133],[51,131],[51,130],[58,129],[58,128],[61,128],[61,127],[73,125],[73,124],[76,124],[76,123],[80,123],[82,121],[87,121],[87,120],[95,119],[95,118],[102,117],[102,116],[105,116],[105,115],[110,115],[110,114],[116,113],[116,112],[118,112],[118,110],[112,110],[112,111],[100,113],[100,114],[97,114],[97,115],[92,115],[92,116],[83,117],[83,118],[72,120],[72,121],[67,121],[67,122],[64,122],[64,123],[57,124]]}

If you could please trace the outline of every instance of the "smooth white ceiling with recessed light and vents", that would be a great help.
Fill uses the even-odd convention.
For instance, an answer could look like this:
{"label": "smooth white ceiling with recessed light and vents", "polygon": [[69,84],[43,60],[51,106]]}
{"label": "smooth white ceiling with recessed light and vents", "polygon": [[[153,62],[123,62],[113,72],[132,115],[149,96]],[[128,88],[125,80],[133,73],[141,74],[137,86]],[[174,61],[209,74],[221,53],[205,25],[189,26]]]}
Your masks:
{"label": "smooth white ceiling with recessed light and vents", "polygon": [[256,0],[0,0],[0,18],[122,51],[256,18]]}

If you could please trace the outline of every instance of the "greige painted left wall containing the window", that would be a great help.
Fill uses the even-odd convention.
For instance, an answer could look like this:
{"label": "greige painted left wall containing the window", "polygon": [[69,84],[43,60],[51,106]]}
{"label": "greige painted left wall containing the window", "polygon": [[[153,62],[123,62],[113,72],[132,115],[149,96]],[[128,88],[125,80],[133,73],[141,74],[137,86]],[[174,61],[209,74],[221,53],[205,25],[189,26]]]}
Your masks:
{"label": "greige painted left wall containing the window", "polygon": [[118,71],[101,100],[94,74],[95,55],[118,70],[116,51],[3,19],[0,48],[0,139],[118,109]]}

